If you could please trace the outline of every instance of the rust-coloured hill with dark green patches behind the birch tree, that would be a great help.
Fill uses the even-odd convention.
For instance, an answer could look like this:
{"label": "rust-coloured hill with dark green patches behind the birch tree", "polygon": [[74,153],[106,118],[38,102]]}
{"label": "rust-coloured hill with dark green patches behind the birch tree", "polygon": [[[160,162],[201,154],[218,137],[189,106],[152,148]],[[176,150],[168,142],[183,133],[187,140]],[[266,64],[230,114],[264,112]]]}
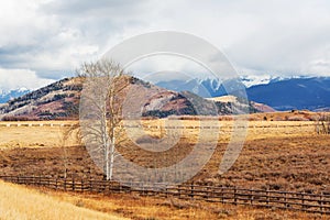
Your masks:
{"label": "rust-coloured hill with dark green patches behind the birch tree", "polygon": [[[135,77],[129,77],[128,88],[118,95],[124,97],[131,112],[152,118],[168,116],[223,116],[260,112],[260,105],[233,98],[209,100],[191,91],[167,90]],[[62,120],[77,119],[85,78],[65,78],[0,105],[2,120]],[[127,95],[130,94],[129,98]],[[263,105],[262,105],[263,106]],[[267,109],[267,108],[266,108]],[[271,108],[268,108],[271,109]],[[271,109],[272,110],[272,109]],[[139,117],[140,117],[139,116]]]}

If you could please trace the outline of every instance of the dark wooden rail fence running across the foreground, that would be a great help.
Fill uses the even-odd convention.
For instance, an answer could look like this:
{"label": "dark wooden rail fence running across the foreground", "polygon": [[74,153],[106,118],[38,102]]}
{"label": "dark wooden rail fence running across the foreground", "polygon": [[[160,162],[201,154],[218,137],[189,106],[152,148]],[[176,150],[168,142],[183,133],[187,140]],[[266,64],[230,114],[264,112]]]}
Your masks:
{"label": "dark wooden rail fence running across the foreground", "polygon": [[77,193],[136,193],[142,196],[161,198],[204,200],[210,202],[246,205],[264,208],[289,209],[306,212],[330,215],[330,195],[305,194],[262,189],[243,189],[234,187],[215,187],[201,185],[166,185],[164,183],[145,185],[143,183],[125,183],[91,179],[66,179],[36,176],[0,176],[1,179],[14,184],[47,187],[55,190]]}

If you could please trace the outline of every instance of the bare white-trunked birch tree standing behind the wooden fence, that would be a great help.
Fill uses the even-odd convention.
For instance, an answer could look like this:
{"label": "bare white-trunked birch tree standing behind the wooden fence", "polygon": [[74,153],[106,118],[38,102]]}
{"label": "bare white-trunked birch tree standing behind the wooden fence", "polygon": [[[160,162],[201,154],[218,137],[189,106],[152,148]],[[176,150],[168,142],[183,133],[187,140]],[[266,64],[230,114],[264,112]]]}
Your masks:
{"label": "bare white-trunked birch tree standing behind the wooden fence", "polygon": [[80,135],[89,154],[108,180],[113,176],[116,147],[123,141],[121,121],[123,90],[129,86],[120,65],[101,59],[79,68],[85,77],[80,100]]}

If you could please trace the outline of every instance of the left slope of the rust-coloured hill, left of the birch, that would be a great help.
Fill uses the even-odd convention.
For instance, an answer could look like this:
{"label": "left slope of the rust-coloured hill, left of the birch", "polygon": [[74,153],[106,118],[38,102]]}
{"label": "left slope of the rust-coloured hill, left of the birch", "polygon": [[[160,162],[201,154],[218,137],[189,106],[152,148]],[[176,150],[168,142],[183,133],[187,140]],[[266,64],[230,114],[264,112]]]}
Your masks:
{"label": "left slope of the rust-coloured hill, left of the birch", "polygon": [[81,78],[65,78],[0,106],[0,118],[50,120],[76,118]]}

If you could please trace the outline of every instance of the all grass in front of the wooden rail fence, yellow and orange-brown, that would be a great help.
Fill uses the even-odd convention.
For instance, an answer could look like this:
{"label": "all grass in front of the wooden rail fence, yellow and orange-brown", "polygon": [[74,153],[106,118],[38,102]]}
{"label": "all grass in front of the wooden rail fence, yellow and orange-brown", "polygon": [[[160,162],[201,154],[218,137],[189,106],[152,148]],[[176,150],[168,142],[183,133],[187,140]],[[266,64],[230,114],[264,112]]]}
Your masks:
{"label": "all grass in front of the wooden rail fence, yellow and orange-brown", "polygon": [[[327,216],[287,210],[255,209],[138,194],[55,191],[0,182],[1,219],[327,219]],[[33,200],[33,202],[31,202]]]}

